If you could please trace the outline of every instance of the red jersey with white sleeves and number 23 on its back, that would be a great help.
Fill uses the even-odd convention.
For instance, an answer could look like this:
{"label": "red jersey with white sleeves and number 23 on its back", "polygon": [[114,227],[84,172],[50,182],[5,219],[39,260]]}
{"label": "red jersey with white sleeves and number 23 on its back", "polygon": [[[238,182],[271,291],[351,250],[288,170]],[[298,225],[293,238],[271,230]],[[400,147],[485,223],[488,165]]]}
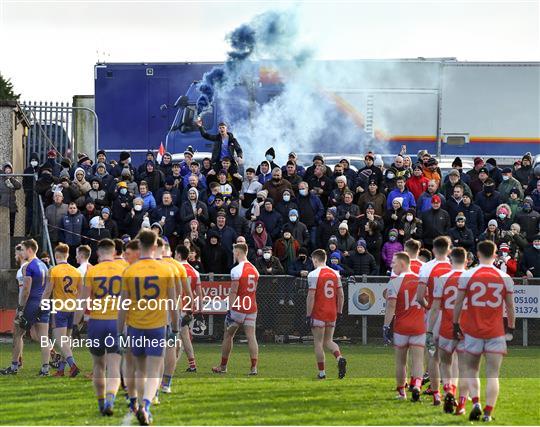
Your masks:
{"label": "red jersey with white sleeves and number 23 on its back", "polygon": [[475,338],[504,336],[504,301],[514,293],[514,281],[493,265],[479,265],[464,271],[458,288],[465,292],[467,310],[461,315],[461,329]]}

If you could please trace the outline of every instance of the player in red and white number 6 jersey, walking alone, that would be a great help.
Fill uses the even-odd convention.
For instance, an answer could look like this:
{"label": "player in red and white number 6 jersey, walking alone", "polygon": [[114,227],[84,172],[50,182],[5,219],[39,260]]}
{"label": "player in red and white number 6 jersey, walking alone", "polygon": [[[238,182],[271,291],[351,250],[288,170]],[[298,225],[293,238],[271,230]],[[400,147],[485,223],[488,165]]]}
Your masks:
{"label": "player in red and white number 6 jersey, walking alone", "polygon": [[326,378],[324,348],[332,352],[338,362],[338,378],[344,378],[347,361],[334,342],[336,320],[343,310],[343,288],[339,273],[326,266],[326,253],[317,249],[311,254],[315,270],[308,274],[306,322],[313,333],[318,379]]}

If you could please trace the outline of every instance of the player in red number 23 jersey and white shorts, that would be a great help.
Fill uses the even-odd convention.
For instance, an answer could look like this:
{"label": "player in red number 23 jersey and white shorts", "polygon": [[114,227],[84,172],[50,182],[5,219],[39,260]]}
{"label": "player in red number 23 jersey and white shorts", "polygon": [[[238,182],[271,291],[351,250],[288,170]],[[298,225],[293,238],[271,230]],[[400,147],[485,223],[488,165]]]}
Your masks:
{"label": "player in red number 23 jersey and white shorts", "polygon": [[[491,241],[479,242],[477,255],[480,264],[461,274],[454,308],[454,335],[463,338],[466,372],[460,376],[469,378],[469,394],[473,409],[469,420],[482,416],[480,406],[480,358],[486,361],[486,406],[483,421],[491,421],[491,413],[499,395],[499,370],[506,341],[512,339],[515,326],[514,282],[506,273],[493,265],[497,246]],[[463,301],[467,299],[467,309]],[[504,306],[508,316],[508,330],[504,330]]]}

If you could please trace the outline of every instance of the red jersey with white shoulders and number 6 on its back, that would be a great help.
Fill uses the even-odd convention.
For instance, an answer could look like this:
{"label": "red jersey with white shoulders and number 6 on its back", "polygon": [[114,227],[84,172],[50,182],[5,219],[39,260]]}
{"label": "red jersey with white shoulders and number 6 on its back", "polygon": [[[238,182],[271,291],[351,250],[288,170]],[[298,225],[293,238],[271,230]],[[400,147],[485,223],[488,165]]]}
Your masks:
{"label": "red jersey with white shoulders and number 6 on its back", "polygon": [[329,267],[319,267],[308,274],[309,292],[315,292],[311,317],[323,322],[337,319],[337,293],[341,288],[339,273]]}

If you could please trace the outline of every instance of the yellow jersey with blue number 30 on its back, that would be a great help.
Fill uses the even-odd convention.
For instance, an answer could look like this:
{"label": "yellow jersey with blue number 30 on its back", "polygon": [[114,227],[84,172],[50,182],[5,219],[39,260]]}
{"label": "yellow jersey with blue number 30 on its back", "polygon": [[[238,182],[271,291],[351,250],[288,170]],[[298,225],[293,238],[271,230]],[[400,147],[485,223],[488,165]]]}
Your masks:
{"label": "yellow jersey with blue number 30 on its back", "polygon": [[[100,310],[90,310],[91,319],[118,318],[117,300],[122,293],[122,273],[125,267],[115,261],[103,261],[88,269],[84,286],[90,289],[92,300],[101,300]],[[95,307],[95,302],[93,303]]]}

